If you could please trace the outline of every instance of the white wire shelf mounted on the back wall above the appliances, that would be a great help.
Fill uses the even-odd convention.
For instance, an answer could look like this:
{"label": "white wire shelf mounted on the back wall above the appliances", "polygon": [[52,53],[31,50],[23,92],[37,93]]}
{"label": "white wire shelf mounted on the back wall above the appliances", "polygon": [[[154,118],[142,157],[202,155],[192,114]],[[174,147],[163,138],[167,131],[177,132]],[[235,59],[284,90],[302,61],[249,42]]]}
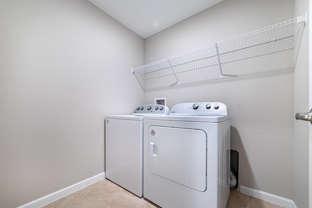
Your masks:
{"label": "white wire shelf mounted on the back wall above the appliances", "polygon": [[137,68],[144,91],[293,68],[307,13]]}

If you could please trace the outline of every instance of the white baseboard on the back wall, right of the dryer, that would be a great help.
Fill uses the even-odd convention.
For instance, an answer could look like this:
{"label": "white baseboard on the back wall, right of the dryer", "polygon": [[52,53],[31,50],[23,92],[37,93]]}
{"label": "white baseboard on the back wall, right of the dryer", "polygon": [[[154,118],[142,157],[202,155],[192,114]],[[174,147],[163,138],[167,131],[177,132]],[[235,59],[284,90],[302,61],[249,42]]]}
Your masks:
{"label": "white baseboard on the back wall, right of the dryer", "polygon": [[276,205],[279,205],[284,208],[297,208],[292,199],[287,199],[285,197],[277,196],[272,193],[267,193],[262,190],[251,189],[244,186],[239,186],[240,192],[255,198],[267,201]]}

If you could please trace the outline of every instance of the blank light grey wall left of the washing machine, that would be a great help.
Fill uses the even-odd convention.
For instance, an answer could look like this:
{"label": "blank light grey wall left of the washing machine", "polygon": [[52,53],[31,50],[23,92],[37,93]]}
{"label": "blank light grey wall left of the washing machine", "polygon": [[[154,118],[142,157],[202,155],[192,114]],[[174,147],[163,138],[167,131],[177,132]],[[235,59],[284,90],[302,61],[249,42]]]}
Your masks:
{"label": "blank light grey wall left of the washing machine", "polygon": [[0,1],[0,207],[104,171],[104,116],[132,113],[144,40],[86,0]]}

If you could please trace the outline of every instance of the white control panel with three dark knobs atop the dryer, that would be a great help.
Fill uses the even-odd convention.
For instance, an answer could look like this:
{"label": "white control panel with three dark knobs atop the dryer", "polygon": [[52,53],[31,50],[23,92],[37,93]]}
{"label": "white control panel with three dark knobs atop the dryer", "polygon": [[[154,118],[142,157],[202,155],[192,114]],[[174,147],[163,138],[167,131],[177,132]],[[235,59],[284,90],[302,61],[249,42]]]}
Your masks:
{"label": "white control panel with three dark knobs atop the dryer", "polygon": [[229,115],[228,108],[220,102],[180,103],[172,107],[170,115]]}

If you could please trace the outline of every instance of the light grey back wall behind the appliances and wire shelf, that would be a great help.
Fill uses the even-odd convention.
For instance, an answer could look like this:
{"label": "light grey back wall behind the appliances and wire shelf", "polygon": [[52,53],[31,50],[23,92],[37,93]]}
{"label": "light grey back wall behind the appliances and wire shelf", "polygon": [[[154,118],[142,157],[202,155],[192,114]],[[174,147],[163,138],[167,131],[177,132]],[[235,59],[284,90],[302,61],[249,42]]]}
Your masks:
{"label": "light grey back wall behind the appliances and wire shelf", "polygon": [[[145,39],[145,63],[233,38],[294,18],[293,0],[225,0]],[[245,68],[242,70],[249,70]],[[231,148],[239,152],[239,184],[293,198],[293,68],[148,91],[145,103],[220,101],[231,115]],[[257,133],[260,131],[260,133]]]}

